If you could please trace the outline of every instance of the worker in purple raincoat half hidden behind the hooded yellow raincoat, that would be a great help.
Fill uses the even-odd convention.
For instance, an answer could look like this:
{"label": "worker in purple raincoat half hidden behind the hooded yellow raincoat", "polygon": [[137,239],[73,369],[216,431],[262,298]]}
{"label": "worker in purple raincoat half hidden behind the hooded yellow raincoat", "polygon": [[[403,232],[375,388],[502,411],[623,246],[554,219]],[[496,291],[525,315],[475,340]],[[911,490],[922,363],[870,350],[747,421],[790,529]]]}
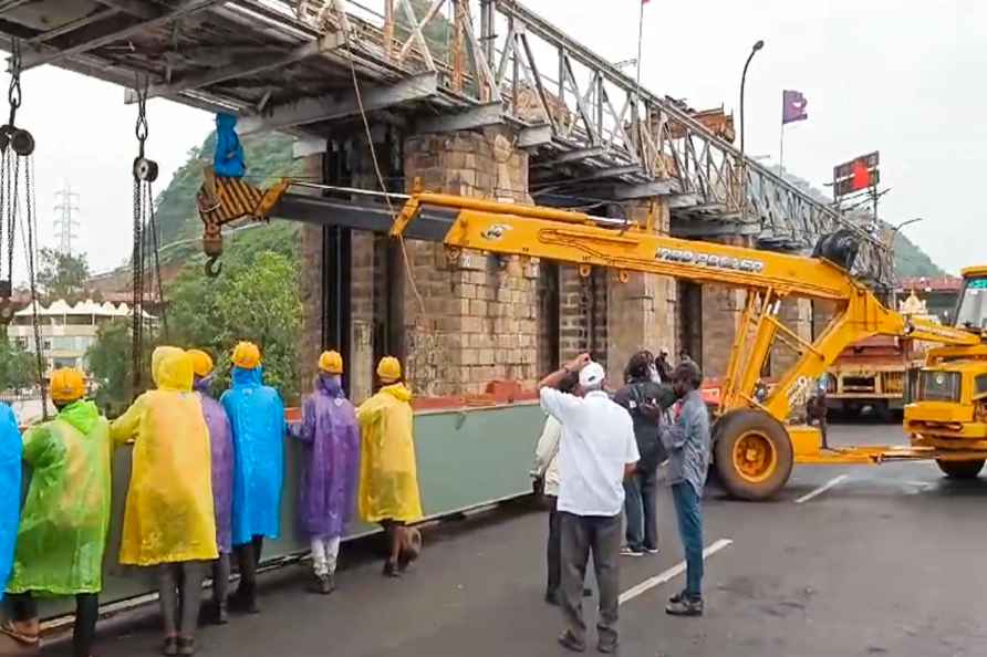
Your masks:
{"label": "worker in purple raincoat half hidden behind the hooded yellow raincoat", "polygon": [[212,357],[200,350],[188,350],[195,379],[193,388],[202,405],[202,416],[209,428],[212,448],[212,505],[216,510],[216,548],[219,559],[212,564],[212,619],[227,623],[227,590],[230,582],[232,538],[230,522],[233,507],[233,440],[230,420],[222,405],[209,395],[212,385]]}

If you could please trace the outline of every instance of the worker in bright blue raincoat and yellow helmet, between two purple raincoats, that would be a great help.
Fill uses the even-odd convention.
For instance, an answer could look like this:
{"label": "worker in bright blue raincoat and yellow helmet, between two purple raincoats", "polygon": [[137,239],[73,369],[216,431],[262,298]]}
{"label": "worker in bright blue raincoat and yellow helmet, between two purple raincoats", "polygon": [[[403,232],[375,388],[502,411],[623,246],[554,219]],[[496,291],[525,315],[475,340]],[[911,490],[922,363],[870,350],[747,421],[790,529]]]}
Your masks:
{"label": "worker in bright blue raincoat and yellow helmet, between two purple raincoats", "polygon": [[240,585],[229,607],[257,613],[257,564],[264,536],[280,534],[281,484],[284,480],[284,403],[263,385],[260,350],[241,342],[232,355],[232,386],[220,401],[233,432],[233,553]]}

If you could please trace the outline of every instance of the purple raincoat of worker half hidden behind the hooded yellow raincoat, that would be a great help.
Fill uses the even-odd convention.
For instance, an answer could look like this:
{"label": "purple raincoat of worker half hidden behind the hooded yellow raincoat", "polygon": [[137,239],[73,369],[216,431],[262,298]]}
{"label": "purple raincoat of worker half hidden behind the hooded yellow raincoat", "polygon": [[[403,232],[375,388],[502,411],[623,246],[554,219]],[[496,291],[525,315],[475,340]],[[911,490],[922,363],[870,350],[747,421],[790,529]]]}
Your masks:
{"label": "purple raincoat of worker half hidden behind the hooded yellow raincoat", "polygon": [[212,448],[212,507],[216,512],[216,545],[226,554],[232,549],[230,535],[233,510],[233,438],[222,405],[209,396],[211,376],[196,377],[195,389],[202,405]]}

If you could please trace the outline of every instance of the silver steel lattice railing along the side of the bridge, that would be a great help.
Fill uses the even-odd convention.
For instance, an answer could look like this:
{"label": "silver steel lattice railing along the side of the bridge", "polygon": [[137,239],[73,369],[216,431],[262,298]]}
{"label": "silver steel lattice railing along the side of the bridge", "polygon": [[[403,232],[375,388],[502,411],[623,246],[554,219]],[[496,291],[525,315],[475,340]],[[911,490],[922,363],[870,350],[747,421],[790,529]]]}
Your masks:
{"label": "silver steel lattice railing along the side of the bridge", "polygon": [[[424,9],[424,11],[422,11]],[[351,49],[377,65],[433,72],[453,98],[496,106],[544,146],[549,166],[579,163],[616,199],[673,197],[673,212],[735,225],[783,249],[853,231],[858,274],[886,283],[887,249],[829,204],[733,145],[733,118],[661,97],[620,66],[515,0],[305,0],[299,12],[346,30]]]}

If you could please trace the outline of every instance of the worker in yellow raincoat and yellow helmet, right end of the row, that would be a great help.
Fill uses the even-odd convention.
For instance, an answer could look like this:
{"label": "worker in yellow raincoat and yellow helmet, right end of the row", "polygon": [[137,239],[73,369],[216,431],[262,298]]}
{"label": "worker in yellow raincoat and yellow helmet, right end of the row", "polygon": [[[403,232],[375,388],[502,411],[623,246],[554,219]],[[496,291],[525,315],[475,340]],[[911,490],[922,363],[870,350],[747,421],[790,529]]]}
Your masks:
{"label": "worker in yellow raincoat and yellow helmet, right end of the row", "polygon": [[397,577],[417,557],[422,542],[418,531],[407,526],[422,519],[414,414],[398,359],[381,358],[377,377],[381,389],[356,410],[361,432],[357,505],[366,522],[380,522],[387,532],[391,553],[384,574]]}

